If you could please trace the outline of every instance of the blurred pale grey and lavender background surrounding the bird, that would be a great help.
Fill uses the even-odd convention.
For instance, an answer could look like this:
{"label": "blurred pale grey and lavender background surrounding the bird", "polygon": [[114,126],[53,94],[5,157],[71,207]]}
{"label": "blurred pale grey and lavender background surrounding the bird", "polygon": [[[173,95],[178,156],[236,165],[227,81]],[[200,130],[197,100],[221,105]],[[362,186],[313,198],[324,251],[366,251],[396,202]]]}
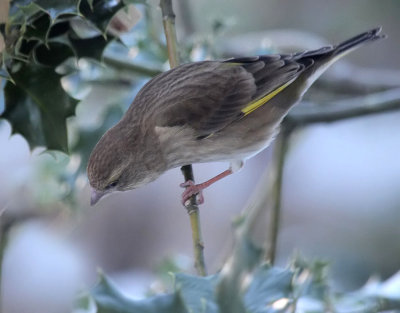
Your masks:
{"label": "blurred pale grey and lavender background surrounding the bird", "polygon": [[[396,0],[179,0],[174,5],[182,56],[194,61],[312,49],[382,25],[388,39],[340,61],[311,88],[306,100],[323,105],[353,96],[340,88],[326,91],[329,82],[346,81],[353,74],[361,75],[364,93],[382,86],[400,87]],[[67,303],[77,289],[93,284],[97,268],[136,298],[149,288],[160,288],[154,283],[160,271],[193,272],[179,169],[89,206],[84,173],[88,153],[148,80],[129,65],[168,69],[165,52],[148,37],[164,40],[157,1],[136,5],[136,10],[141,19],[122,35],[126,46],[113,43],[105,52],[109,67],[81,60],[79,71],[63,82],[82,99],[76,117],[68,119],[71,156],[50,155],[43,149],[31,152],[25,139],[11,136],[9,123],[0,120],[0,210],[2,219],[7,215],[18,220],[3,260],[4,312],[23,312],[24,303],[15,299],[28,297],[39,287],[42,295],[25,297],[31,308],[35,301],[40,307],[41,296],[60,297],[60,303]],[[121,63],[113,62],[116,59]],[[285,266],[295,252],[327,260],[339,290],[358,288],[372,275],[386,278],[400,269],[399,120],[400,111],[393,111],[314,124],[291,136],[284,166],[278,265]],[[220,269],[229,254],[232,221],[266,170],[272,149],[205,191],[201,220],[210,273]],[[196,164],[195,178],[204,181],[227,166]],[[21,289],[22,279],[26,290]],[[67,290],[64,298],[53,288],[60,285]]]}

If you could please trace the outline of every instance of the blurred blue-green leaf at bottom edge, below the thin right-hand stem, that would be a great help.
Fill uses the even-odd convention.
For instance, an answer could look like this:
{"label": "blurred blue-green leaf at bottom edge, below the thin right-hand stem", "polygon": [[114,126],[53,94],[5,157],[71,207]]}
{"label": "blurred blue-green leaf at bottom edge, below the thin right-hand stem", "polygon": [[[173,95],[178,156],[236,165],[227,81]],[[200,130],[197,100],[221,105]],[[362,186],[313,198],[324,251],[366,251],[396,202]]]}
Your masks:
{"label": "blurred blue-green leaf at bottom edge, below the thin right-hand stem", "polygon": [[252,313],[271,312],[271,304],[292,298],[293,272],[263,265],[253,273],[253,280],[244,297],[245,307]]}

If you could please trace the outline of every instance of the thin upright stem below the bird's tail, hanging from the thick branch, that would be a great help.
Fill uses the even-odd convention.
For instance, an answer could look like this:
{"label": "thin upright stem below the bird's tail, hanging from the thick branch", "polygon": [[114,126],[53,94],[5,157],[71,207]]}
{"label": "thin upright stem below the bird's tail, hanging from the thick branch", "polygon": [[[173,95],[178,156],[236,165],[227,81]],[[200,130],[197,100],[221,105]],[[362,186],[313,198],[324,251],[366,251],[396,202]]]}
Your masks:
{"label": "thin upright stem below the bird's tail, hanging from the thick branch", "polygon": [[271,186],[268,195],[268,201],[271,203],[271,215],[269,229],[269,244],[266,252],[266,260],[274,264],[276,258],[276,247],[278,242],[278,233],[281,217],[281,199],[282,199],[282,177],[285,162],[286,151],[289,146],[289,137],[293,128],[281,126],[281,132],[275,140],[273,159],[271,160],[271,168],[274,169],[269,176],[269,186]]}

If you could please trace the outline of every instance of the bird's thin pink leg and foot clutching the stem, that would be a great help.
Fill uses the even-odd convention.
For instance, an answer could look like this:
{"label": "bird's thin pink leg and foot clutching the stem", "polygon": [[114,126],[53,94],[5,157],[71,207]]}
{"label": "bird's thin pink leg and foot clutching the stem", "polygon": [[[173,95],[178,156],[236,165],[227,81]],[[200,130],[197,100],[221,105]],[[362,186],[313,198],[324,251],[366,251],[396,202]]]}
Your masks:
{"label": "bird's thin pink leg and foot clutching the stem", "polygon": [[187,182],[182,183],[180,186],[186,188],[186,190],[182,193],[182,204],[185,203],[190,199],[193,195],[198,195],[198,204],[204,203],[204,196],[203,196],[203,189],[207,188],[208,186],[214,184],[215,182],[219,181],[220,179],[239,171],[244,165],[242,160],[233,160],[231,161],[231,166],[226,171],[218,174],[217,176],[205,181],[201,184],[195,184],[193,181],[188,180]]}

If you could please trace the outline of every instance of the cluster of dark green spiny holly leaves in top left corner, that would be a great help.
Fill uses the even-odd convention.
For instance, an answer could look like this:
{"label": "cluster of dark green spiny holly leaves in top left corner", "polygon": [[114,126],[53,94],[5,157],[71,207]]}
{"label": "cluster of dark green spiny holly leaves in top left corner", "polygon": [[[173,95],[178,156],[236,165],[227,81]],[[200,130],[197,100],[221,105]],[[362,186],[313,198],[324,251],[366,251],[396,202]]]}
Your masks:
{"label": "cluster of dark green spiny holly leaves in top left corner", "polygon": [[[129,1],[132,2],[132,1]],[[7,24],[1,25],[5,49],[0,75],[5,109],[0,117],[13,133],[25,137],[31,149],[44,146],[68,152],[66,119],[78,100],[63,88],[60,65],[69,59],[102,60],[115,38],[107,29],[126,6],[110,0],[14,0]],[[64,67],[65,68],[65,67]]]}

